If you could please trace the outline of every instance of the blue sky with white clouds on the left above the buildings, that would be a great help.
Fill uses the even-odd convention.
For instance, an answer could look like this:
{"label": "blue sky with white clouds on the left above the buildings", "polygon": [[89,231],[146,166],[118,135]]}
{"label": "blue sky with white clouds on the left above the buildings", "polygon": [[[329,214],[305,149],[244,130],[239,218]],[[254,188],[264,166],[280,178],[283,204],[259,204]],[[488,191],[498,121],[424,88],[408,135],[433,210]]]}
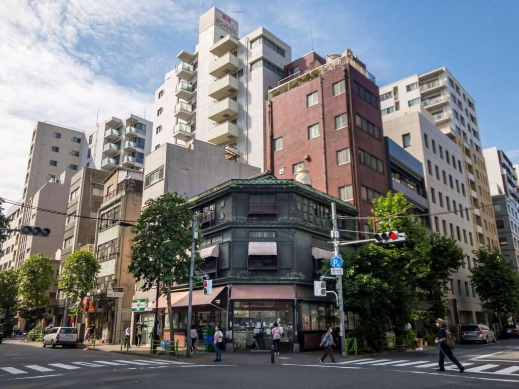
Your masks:
{"label": "blue sky with white clouds on the left above the buildings", "polygon": [[155,90],[213,6],[240,36],[266,27],[293,60],[349,48],[379,86],[446,66],[476,103],[483,148],[519,162],[515,0],[0,0],[0,197],[21,198],[37,121],[89,130],[98,110],[100,121],[153,120]]}

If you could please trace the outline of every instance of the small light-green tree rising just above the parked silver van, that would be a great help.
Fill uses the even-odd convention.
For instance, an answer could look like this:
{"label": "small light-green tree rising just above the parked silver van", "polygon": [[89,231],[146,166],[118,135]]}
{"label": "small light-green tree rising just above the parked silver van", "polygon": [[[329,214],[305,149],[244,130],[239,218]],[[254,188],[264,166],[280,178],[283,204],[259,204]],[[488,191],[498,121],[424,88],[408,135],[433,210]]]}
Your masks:
{"label": "small light-green tree rising just above the parked silver van", "polygon": [[86,250],[75,251],[66,258],[61,270],[60,288],[68,303],[75,304],[69,311],[70,315],[78,316],[84,311],[81,300],[92,290],[100,268],[95,256]]}

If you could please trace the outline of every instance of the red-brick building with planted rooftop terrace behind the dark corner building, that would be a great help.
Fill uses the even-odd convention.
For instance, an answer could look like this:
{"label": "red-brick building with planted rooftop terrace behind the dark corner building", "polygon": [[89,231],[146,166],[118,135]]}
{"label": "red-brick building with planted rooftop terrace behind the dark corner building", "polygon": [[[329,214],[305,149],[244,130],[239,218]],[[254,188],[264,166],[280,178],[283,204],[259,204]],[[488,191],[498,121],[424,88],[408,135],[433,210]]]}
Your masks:
{"label": "red-brick building with planted rooftop terrace behind the dark corner building", "polygon": [[[326,59],[312,51],[284,71],[266,106],[267,170],[293,178],[309,169],[314,188],[370,217],[373,199],[389,189],[374,77],[351,50]],[[368,224],[359,221],[358,230]]]}

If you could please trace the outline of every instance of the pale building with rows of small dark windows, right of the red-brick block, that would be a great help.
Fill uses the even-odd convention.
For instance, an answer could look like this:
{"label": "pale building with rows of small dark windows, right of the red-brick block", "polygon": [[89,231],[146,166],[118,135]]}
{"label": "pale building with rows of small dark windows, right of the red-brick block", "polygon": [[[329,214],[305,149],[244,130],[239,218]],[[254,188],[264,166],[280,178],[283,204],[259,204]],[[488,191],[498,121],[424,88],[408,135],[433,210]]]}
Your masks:
{"label": "pale building with rows of small dark windows, right of the red-brick block", "polygon": [[465,258],[453,274],[448,290],[452,324],[483,322],[481,303],[470,281],[475,266],[473,251],[479,247],[473,230],[474,211],[466,184],[461,147],[450,141],[434,117],[416,105],[384,116],[384,134],[424,165],[431,230],[454,238]]}

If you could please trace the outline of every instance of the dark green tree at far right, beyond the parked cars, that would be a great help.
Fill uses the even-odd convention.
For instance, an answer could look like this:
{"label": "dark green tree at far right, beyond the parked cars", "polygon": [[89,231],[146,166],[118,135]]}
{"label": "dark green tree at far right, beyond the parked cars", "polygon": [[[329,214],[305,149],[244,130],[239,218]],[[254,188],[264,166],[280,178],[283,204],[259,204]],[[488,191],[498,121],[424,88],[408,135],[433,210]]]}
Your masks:
{"label": "dark green tree at far right, beyond the parked cars", "polygon": [[482,246],[474,254],[477,266],[472,269],[472,283],[483,307],[497,313],[501,327],[501,315],[519,310],[519,274],[497,247]]}

